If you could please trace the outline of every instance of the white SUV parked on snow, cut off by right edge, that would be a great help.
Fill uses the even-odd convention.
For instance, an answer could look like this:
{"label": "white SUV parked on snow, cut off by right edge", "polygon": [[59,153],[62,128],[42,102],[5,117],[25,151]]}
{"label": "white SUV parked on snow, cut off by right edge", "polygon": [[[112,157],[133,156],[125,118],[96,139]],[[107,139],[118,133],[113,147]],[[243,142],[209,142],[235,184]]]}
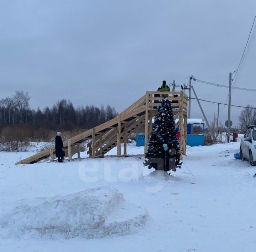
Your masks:
{"label": "white SUV parked on snow, cut off by right edge", "polygon": [[250,165],[256,164],[256,126],[250,126],[240,143],[241,160],[249,160]]}

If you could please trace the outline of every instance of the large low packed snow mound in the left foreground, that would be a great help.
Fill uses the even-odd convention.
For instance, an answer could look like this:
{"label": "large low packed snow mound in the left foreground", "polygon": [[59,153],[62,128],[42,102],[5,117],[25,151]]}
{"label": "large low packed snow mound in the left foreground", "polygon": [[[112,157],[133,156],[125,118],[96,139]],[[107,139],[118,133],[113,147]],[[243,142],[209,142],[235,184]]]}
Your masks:
{"label": "large low packed snow mound in the left foreground", "polygon": [[37,205],[22,204],[0,218],[4,237],[86,239],[127,235],[144,228],[148,211],[128,203],[113,187],[54,196]]}

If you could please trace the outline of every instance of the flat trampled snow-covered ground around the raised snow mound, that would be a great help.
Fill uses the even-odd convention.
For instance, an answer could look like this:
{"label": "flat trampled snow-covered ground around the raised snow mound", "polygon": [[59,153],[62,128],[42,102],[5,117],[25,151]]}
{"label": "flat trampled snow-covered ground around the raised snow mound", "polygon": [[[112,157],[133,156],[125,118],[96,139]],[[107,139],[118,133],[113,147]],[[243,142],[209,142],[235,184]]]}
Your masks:
{"label": "flat trampled snow-covered ground around the raised snow mound", "polygon": [[[144,147],[134,144],[127,148],[132,157],[64,164],[16,166],[20,155],[26,158],[34,152],[0,152],[0,216],[21,204],[102,186],[116,188],[150,216],[144,229],[129,235],[97,239],[10,235],[0,238],[0,251],[255,251],[256,167],[234,159],[239,144],[188,147],[182,169],[166,179],[143,167]],[[111,154],[116,154],[115,148]]]}

